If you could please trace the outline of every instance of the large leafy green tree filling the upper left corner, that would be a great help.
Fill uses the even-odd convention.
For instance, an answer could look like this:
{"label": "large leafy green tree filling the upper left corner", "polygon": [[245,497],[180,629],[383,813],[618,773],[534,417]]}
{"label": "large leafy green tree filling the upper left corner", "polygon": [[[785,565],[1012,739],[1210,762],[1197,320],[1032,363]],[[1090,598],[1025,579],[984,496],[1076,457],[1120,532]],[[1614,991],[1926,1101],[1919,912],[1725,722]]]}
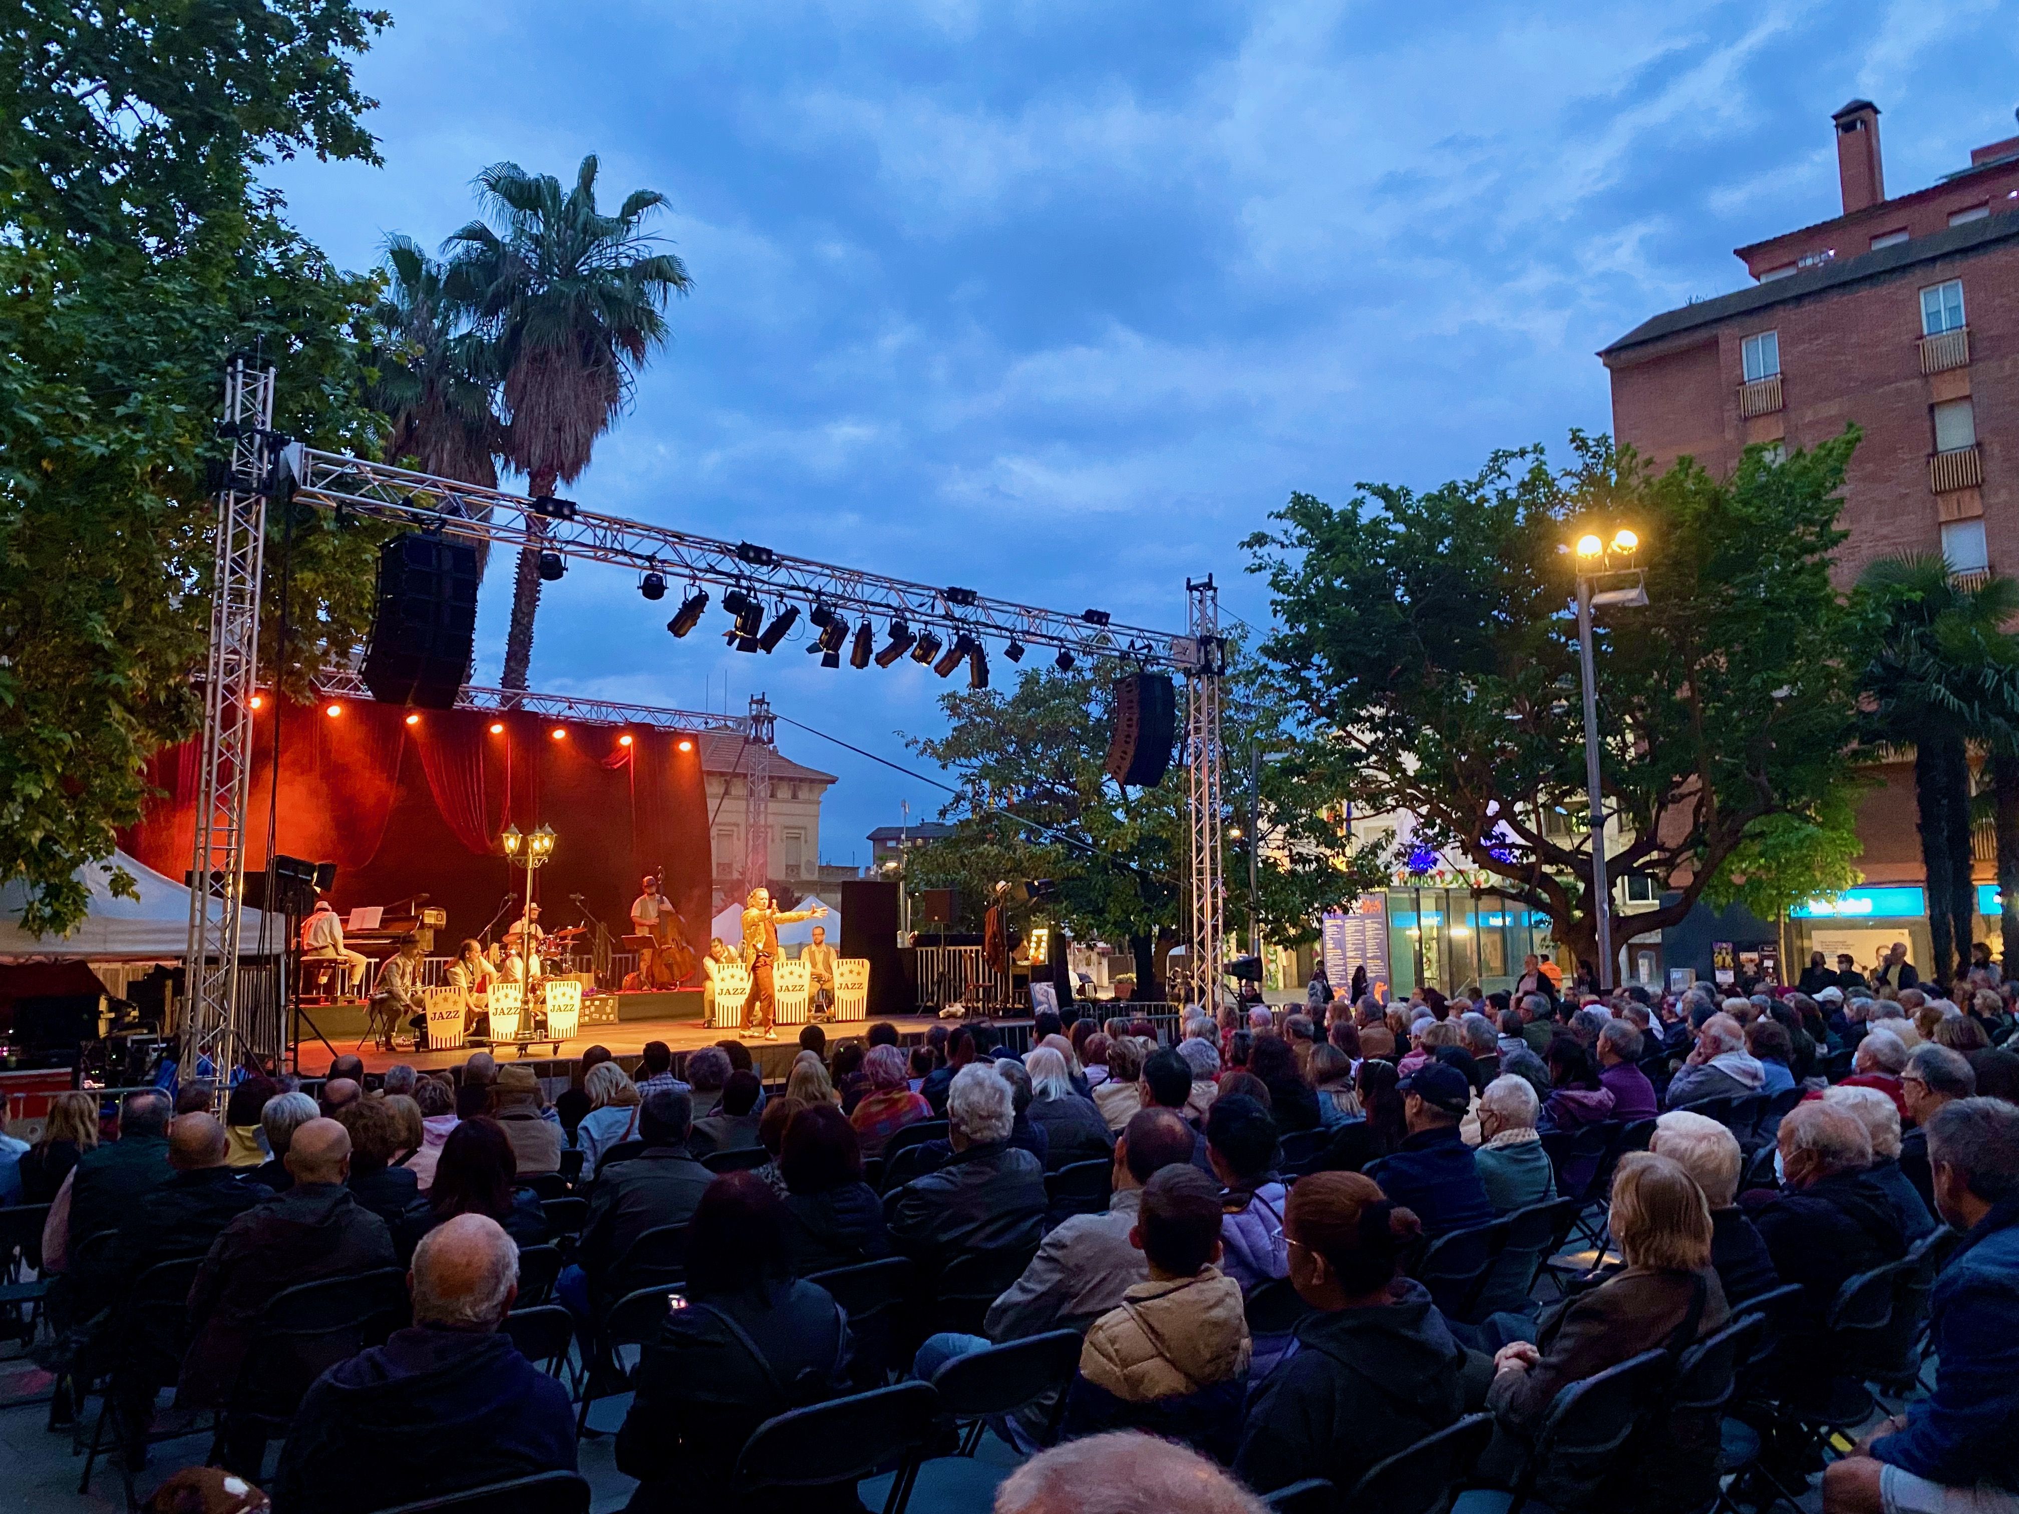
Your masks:
{"label": "large leafy green tree filling the upper left corner", "polygon": [[[376,161],[349,55],[382,24],[335,0],[26,0],[0,30],[0,880],[28,884],[30,931],[83,916],[79,870],[139,818],[147,757],[196,727],[226,357],[279,365],[281,430],[376,444],[374,287],[254,172]],[[317,628],[291,646],[299,692],[369,616],[376,537],[273,527],[293,620]]]}

